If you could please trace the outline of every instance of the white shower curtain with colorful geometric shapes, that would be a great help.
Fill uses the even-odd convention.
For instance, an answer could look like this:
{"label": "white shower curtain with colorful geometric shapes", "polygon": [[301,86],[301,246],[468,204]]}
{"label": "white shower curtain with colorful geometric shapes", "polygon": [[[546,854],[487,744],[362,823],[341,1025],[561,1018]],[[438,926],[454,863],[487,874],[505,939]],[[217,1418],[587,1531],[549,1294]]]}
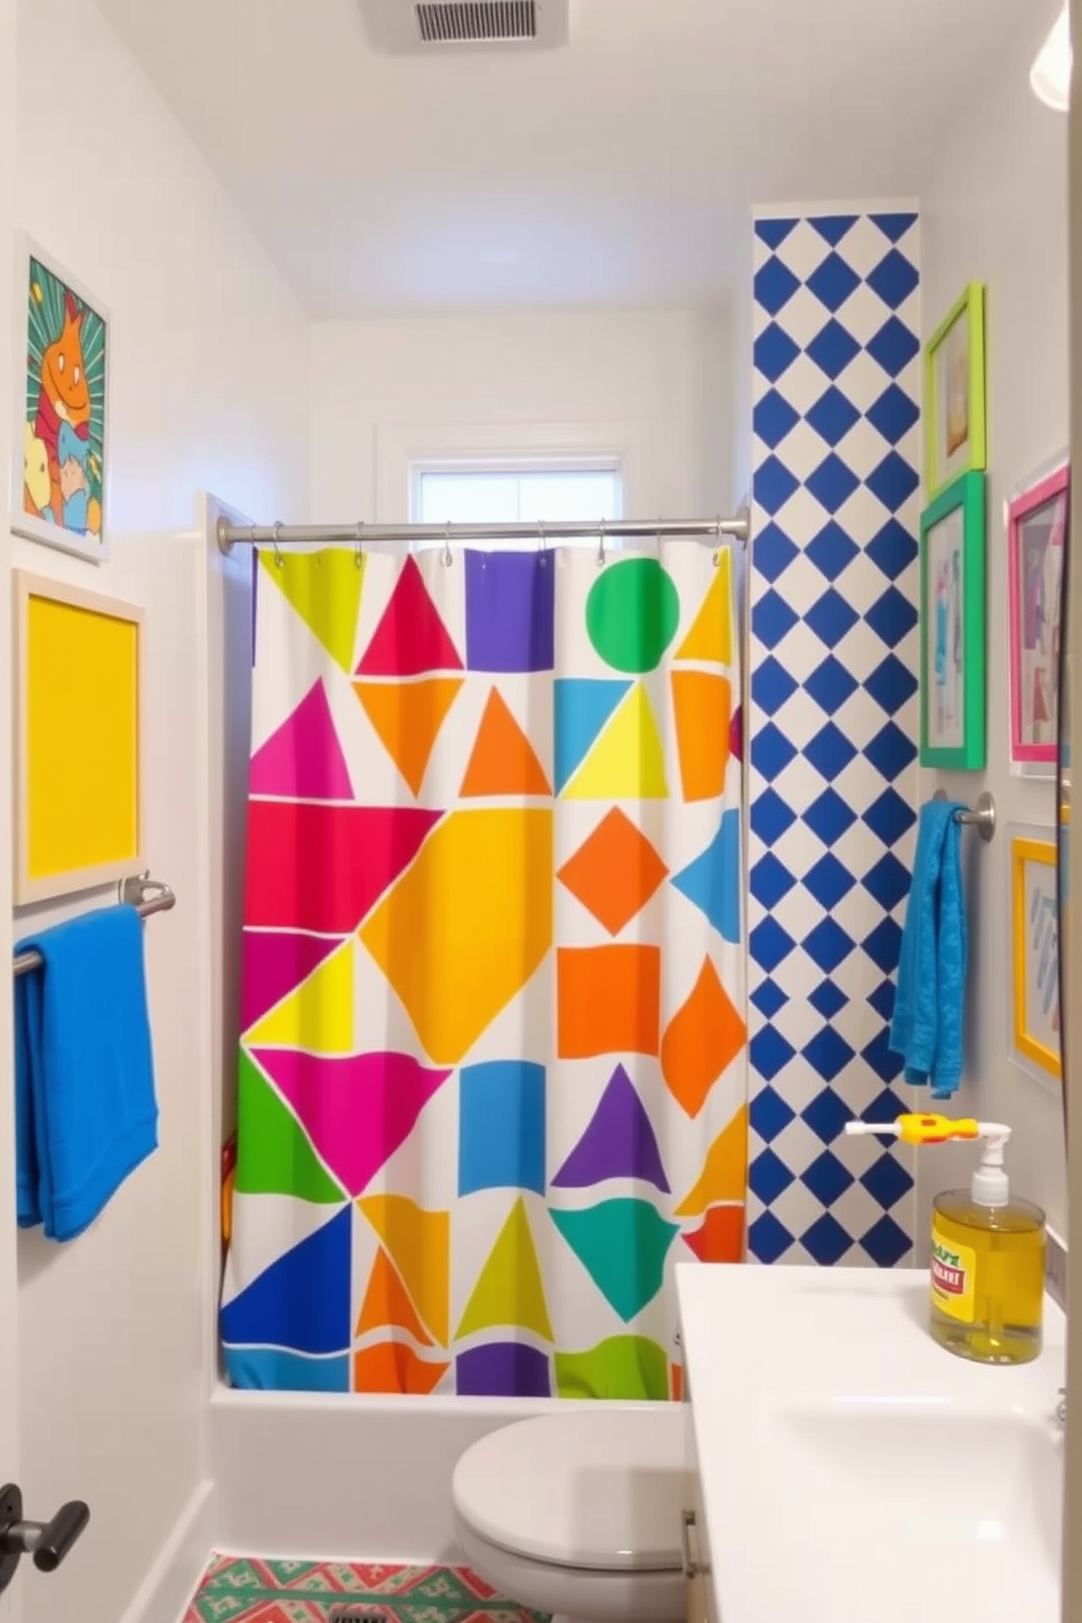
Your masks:
{"label": "white shower curtain with colorful geometric shapes", "polygon": [[675,1396],[743,1245],[730,553],[256,579],[229,1378]]}

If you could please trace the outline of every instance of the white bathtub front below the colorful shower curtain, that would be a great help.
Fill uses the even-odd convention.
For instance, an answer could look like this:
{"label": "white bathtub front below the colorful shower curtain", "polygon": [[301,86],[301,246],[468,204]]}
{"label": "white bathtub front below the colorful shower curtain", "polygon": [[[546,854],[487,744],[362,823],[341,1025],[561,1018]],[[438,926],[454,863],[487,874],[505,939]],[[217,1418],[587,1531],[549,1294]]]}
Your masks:
{"label": "white bathtub front below the colorful shower curtain", "polygon": [[238,1393],[219,1384],[208,1414],[216,1548],[454,1561],[451,1474],[459,1454],[479,1436],[555,1404],[602,1407],[552,1397]]}

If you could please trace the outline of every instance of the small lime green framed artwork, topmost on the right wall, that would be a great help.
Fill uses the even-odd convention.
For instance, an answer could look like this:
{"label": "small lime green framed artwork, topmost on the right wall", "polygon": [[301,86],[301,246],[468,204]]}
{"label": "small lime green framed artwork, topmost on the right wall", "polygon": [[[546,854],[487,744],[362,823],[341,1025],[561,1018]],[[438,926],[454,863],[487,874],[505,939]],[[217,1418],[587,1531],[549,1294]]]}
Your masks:
{"label": "small lime green framed artwork, topmost on the right wall", "polygon": [[933,500],[959,474],[988,467],[985,289],[970,282],[925,351],[925,484]]}

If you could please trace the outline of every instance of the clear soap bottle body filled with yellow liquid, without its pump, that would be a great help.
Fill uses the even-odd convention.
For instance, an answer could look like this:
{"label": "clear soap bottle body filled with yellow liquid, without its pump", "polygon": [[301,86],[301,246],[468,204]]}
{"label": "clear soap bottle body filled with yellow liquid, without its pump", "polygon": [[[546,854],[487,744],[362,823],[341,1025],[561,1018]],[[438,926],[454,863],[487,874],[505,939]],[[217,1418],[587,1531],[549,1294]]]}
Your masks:
{"label": "clear soap bottle body filled with yellow liquid, without its pump", "polygon": [[931,1334],[977,1363],[1028,1363],[1041,1350],[1045,1212],[981,1206],[947,1190],[931,1219]]}

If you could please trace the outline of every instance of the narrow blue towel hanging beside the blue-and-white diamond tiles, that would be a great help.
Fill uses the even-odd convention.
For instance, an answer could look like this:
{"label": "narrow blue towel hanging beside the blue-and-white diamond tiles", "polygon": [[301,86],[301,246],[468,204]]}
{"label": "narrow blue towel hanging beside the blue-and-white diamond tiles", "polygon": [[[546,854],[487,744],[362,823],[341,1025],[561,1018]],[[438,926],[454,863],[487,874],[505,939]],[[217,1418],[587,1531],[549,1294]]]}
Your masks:
{"label": "narrow blue towel hanging beside the blue-and-white diamond tiles", "polygon": [[949,1099],[965,1066],[960,810],[957,802],[933,800],[920,813],[891,1021],[891,1048],[905,1060],[905,1081],[931,1084],[933,1099]]}

